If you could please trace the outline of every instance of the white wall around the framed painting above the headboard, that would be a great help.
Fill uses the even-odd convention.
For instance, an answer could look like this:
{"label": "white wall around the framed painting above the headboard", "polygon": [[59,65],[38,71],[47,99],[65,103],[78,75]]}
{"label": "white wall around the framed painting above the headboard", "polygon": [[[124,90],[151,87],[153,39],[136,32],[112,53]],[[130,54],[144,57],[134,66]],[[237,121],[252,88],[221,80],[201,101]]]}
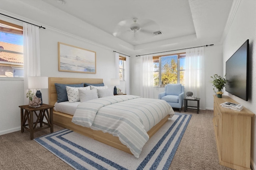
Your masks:
{"label": "white wall around the framed painting above the headboard", "polygon": [[[58,71],[58,42],[95,51],[96,74]],[[103,78],[104,84],[112,88],[110,79],[114,78],[115,75],[115,55],[114,52],[108,48],[94,45],[79,37],[56,32],[53,29],[40,29],[40,58],[41,76]]]}

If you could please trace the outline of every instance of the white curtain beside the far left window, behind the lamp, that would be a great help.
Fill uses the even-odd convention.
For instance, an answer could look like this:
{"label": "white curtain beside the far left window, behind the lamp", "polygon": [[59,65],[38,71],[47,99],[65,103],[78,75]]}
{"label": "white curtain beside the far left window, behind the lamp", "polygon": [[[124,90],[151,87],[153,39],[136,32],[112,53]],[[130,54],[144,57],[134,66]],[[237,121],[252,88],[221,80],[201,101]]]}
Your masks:
{"label": "white curtain beside the far left window, behind the lamp", "polygon": [[[40,75],[40,49],[39,28],[23,23],[23,47],[24,47],[24,104],[28,104],[26,93],[28,92],[28,77]],[[33,91],[34,94],[36,90]]]}

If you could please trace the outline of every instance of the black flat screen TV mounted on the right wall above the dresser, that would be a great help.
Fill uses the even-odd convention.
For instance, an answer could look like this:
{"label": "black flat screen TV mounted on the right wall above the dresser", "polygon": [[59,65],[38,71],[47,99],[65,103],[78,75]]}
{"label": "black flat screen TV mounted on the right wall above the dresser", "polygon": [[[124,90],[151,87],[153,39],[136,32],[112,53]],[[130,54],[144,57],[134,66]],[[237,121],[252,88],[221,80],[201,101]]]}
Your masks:
{"label": "black flat screen TV mounted on the right wall above the dresser", "polygon": [[248,101],[249,40],[226,61],[226,91]]}

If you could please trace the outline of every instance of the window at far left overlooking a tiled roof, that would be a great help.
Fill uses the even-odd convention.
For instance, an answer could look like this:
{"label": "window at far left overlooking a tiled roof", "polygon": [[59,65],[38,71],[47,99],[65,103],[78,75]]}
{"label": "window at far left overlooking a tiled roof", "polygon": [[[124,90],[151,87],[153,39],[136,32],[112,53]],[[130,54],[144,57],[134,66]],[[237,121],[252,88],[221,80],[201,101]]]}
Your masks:
{"label": "window at far left overlooking a tiled roof", "polygon": [[23,27],[0,20],[0,77],[24,77]]}

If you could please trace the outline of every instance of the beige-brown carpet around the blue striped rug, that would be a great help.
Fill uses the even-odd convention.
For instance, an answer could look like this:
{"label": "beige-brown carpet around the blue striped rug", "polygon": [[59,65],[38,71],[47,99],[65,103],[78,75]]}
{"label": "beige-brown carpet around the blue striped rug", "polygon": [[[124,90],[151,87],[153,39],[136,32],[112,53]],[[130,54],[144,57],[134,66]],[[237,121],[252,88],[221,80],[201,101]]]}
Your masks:
{"label": "beige-brown carpet around the blue striped rug", "polygon": [[[178,111],[178,110],[174,110]],[[182,109],[182,113],[183,109]],[[190,123],[172,160],[169,170],[231,170],[218,163],[214,130],[213,111],[188,110],[192,114]],[[54,131],[64,129],[54,125]],[[40,137],[50,133],[45,129],[34,133]],[[9,133],[0,136],[1,170],[72,170],[68,164],[44,149],[34,140],[30,140],[27,131]]]}

